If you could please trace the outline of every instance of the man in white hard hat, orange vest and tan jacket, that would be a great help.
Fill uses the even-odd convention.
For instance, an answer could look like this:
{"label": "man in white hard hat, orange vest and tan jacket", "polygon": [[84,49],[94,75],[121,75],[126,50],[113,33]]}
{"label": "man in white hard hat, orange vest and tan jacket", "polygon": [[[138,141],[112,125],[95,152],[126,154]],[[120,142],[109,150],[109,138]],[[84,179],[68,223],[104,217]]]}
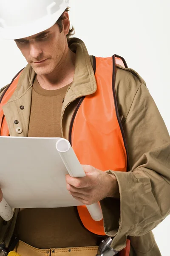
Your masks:
{"label": "man in white hard hat, orange vest and tan jacket", "polygon": [[83,204],[100,201],[104,223],[86,208],[20,209],[0,238],[21,256],[93,256],[105,235],[119,255],[128,238],[128,255],[160,256],[151,230],[170,212],[169,134],[138,73],[70,38],[67,8],[68,0],[0,1],[0,33],[28,61],[1,90],[0,135],[70,140],[86,177],[67,175],[67,189]]}

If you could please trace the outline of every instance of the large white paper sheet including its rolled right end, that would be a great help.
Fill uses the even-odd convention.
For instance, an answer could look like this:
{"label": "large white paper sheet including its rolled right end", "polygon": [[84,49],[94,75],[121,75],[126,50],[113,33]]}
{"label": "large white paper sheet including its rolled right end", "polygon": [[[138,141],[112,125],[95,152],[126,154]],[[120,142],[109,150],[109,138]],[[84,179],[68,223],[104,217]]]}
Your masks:
{"label": "large white paper sheet including its rolled right end", "polygon": [[[57,208],[82,205],[66,189],[65,174],[84,177],[68,140],[0,136],[0,187],[11,208]],[[96,221],[98,203],[88,206]]]}

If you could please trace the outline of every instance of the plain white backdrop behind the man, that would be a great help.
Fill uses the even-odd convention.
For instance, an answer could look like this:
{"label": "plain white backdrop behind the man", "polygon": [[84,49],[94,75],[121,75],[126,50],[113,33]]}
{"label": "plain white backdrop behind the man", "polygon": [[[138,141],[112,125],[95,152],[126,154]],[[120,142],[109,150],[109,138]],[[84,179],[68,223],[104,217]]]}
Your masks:
{"label": "plain white backdrop behind the man", "polygon": [[[170,132],[170,0],[70,0],[70,20],[89,54],[125,58],[147,87]],[[0,87],[26,66],[14,41],[0,41]],[[153,230],[169,255],[170,216]]]}

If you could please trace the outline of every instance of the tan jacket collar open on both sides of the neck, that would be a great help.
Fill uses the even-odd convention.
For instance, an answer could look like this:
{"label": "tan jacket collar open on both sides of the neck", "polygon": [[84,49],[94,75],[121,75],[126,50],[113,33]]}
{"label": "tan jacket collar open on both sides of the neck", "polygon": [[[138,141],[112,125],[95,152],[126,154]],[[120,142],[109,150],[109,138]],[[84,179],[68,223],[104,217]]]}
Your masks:
{"label": "tan jacket collar open on both sides of the neck", "polygon": [[[76,63],[74,80],[71,87],[69,87],[69,93],[65,97],[65,106],[76,98],[90,95],[96,91],[96,79],[84,42],[79,38],[71,38],[69,48],[76,52]],[[35,75],[33,68],[28,64],[23,70],[17,88],[8,102],[22,97],[32,87]]]}

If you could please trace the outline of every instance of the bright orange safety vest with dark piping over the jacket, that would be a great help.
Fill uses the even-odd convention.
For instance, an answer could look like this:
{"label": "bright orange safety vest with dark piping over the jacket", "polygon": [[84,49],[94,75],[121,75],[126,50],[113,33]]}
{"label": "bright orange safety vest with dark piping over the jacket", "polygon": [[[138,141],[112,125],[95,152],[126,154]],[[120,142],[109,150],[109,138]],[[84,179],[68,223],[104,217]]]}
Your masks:
{"label": "bright orange safety vest with dark piping over the jacket", "polygon": [[[80,98],[71,119],[69,141],[81,164],[106,171],[129,171],[127,145],[116,102],[116,64],[127,67],[125,60],[93,56],[97,90]],[[8,136],[8,125],[2,110],[17,87],[20,73],[0,97],[0,135]],[[94,221],[85,206],[78,206],[79,217],[86,229],[105,236],[102,221]],[[130,246],[128,245],[128,250]],[[127,251],[127,247],[125,249]],[[125,254],[123,254],[125,255]],[[128,255],[128,253],[127,253]]]}

